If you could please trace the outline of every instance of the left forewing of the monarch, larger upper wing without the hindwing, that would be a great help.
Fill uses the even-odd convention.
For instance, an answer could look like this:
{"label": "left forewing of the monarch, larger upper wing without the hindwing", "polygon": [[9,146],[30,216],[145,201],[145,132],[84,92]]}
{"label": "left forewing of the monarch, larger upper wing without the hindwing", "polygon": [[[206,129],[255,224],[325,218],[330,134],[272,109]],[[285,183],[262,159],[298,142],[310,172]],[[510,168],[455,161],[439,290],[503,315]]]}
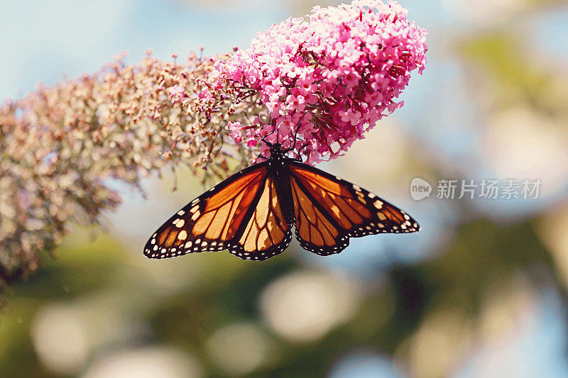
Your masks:
{"label": "left forewing of the monarch, larger upper wing without the hindwing", "polygon": [[260,198],[268,169],[260,163],[232,175],[166,221],[146,243],[146,257],[162,259],[190,252],[220,251],[239,236]]}

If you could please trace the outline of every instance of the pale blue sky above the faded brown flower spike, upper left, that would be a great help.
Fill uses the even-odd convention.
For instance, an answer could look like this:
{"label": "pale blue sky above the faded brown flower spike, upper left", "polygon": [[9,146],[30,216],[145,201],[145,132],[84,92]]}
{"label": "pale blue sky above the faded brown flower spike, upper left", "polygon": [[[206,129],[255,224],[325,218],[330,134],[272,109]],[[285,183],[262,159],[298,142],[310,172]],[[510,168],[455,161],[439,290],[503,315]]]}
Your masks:
{"label": "pale blue sky above the faded brown flower spike, upper left", "polygon": [[2,1],[0,101],[63,74],[95,72],[122,51],[137,62],[148,48],[161,59],[173,52],[183,59],[200,45],[206,55],[246,47],[289,13],[279,2],[257,0],[220,9],[178,1]]}

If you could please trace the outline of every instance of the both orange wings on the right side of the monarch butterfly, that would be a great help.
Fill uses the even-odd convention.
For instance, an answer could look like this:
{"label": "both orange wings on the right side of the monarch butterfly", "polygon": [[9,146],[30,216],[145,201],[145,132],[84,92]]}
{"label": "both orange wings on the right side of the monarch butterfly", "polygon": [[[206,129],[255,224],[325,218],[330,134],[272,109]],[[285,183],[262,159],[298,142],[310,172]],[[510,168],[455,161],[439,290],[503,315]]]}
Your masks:
{"label": "both orange wings on the right side of the monarch butterfly", "polygon": [[420,230],[405,211],[321,169],[290,162],[296,238],[318,255],[339,253],[349,238]]}

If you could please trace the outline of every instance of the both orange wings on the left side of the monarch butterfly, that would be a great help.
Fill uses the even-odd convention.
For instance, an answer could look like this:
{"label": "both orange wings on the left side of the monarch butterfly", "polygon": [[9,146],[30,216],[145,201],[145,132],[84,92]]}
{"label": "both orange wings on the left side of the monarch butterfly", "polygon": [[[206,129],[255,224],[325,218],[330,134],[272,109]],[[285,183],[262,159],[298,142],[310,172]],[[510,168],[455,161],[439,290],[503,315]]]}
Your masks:
{"label": "both orange wings on the left side of the monarch butterfly", "polygon": [[245,260],[265,260],[292,239],[275,185],[261,163],[209,189],[152,235],[144,255],[166,258],[227,249]]}

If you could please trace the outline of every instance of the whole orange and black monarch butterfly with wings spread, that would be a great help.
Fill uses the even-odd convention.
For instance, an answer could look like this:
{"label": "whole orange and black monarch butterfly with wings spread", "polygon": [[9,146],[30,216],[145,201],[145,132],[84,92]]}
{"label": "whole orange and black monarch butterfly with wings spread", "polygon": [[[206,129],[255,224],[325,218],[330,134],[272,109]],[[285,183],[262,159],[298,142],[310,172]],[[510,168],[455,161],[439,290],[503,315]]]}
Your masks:
{"label": "whole orange and black monarch butterfly with wings spread", "polygon": [[349,238],[420,230],[376,194],[287,157],[279,143],[268,145],[271,155],[264,162],[233,174],[158,228],[144,255],[161,259],[226,249],[244,260],[266,260],[288,247],[293,226],[302,248],[332,255]]}

